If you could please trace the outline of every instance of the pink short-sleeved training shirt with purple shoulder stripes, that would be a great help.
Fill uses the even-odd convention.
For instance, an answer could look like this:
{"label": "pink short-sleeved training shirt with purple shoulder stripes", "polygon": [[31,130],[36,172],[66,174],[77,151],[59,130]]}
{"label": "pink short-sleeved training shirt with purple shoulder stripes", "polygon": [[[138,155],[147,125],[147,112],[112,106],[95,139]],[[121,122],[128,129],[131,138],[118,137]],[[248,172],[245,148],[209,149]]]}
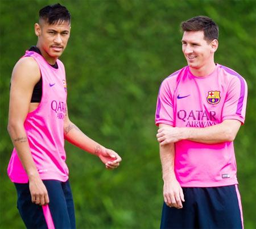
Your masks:
{"label": "pink short-sleeved training shirt with purple shoulder stripes", "polygon": [[[216,65],[213,73],[196,77],[185,66],[160,86],[155,123],[204,128],[225,119],[245,120],[247,86],[232,69]],[[175,143],[175,173],[183,187],[237,184],[233,142]]]}

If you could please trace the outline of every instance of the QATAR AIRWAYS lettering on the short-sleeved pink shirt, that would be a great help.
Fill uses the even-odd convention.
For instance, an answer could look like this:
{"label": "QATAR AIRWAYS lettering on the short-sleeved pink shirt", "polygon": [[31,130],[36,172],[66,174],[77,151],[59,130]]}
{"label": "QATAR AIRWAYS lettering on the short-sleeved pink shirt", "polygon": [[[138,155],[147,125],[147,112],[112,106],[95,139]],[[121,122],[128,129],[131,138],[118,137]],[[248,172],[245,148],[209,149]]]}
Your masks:
{"label": "QATAR AIRWAYS lettering on the short-sleeved pink shirt", "polygon": [[179,110],[177,118],[185,122],[186,127],[208,127],[217,124],[215,111],[205,110]]}

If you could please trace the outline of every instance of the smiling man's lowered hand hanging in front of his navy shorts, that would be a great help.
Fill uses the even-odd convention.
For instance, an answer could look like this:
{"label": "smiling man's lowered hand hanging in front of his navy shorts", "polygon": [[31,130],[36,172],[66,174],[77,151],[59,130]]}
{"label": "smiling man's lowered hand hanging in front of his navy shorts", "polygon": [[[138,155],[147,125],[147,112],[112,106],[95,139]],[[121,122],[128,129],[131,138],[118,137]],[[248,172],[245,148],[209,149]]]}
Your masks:
{"label": "smiling man's lowered hand hanging in front of his navy shorts", "polygon": [[185,202],[183,190],[177,180],[165,181],[163,186],[164,202],[169,207],[182,209],[182,202]]}

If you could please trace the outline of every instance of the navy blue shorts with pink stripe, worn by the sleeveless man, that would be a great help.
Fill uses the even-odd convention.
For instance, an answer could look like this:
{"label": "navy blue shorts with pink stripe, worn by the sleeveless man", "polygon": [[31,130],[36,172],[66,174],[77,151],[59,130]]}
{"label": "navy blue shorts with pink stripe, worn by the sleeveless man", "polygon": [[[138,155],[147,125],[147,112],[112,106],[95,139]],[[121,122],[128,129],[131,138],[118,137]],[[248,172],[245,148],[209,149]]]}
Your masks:
{"label": "navy blue shorts with pink stripe, worn by the sleeveless man", "polygon": [[69,182],[43,180],[48,191],[49,205],[31,202],[28,183],[14,183],[19,214],[27,228],[76,228],[75,210]]}

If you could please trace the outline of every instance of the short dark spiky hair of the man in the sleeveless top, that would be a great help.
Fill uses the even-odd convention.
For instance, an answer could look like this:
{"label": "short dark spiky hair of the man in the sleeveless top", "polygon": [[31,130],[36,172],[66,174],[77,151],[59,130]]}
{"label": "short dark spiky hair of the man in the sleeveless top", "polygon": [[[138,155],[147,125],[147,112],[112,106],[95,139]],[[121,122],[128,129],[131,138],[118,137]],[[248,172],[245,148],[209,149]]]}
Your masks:
{"label": "short dark spiky hair of the man in the sleeveless top", "polygon": [[61,6],[60,3],[43,7],[39,11],[39,20],[43,19],[48,24],[55,24],[61,22],[71,21],[71,15],[65,6]]}

